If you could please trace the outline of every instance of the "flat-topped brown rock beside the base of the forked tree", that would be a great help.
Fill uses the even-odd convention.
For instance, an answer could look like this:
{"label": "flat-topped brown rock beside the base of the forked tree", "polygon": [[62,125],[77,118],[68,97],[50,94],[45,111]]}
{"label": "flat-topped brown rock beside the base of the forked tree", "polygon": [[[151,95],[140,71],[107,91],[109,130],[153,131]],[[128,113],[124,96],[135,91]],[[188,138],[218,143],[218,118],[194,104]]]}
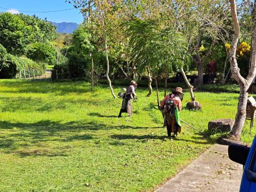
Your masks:
{"label": "flat-topped brown rock beside the base of the forked tree", "polygon": [[230,132],[233,125],[233,119],[217,119],[208,122],[208,130],[210,132]]}

